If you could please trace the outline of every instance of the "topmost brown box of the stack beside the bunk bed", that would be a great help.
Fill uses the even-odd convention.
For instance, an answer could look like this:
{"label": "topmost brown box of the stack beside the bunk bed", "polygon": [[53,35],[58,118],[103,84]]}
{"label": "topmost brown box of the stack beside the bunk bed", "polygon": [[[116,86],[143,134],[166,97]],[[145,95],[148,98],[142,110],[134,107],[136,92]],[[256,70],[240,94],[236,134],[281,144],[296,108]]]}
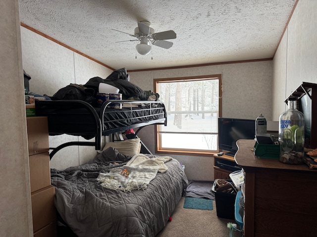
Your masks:
{"label": "topmost brown box of the stack beside the bunk bed", "polygon": [[26,124],[29,156],[48,152],[50,150],[48,118],[29,117],[26,118]]}

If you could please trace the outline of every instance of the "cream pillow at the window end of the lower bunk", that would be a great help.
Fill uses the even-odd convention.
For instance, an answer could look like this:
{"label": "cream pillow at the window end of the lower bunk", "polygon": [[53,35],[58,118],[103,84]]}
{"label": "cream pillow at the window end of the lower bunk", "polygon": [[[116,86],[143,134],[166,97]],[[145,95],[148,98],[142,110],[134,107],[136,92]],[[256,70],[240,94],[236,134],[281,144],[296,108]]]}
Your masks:
{"label": "cream pillow at the window end of the lower bunk", "polygon": [[103,151],[105,151],[109,147],[113,147],[118,150],[123,155],[133,157],[135,154],[139,152],[140,146],[140,138],[128,139],[124,141],[118,142],[107,142]]}

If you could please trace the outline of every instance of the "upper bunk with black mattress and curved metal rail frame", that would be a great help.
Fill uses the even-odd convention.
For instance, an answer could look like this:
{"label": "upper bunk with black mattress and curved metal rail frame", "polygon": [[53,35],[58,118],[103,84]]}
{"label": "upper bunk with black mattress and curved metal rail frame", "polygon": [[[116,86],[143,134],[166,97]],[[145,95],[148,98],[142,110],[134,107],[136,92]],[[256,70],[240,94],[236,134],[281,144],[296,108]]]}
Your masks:
{"label": "upper bunk with black mattress and curved metal rail frame", "polygon": [[81,100],[39,100],[36,101],[36,114],[48,117],[51,136],[68,134],[87,140],[95,138],[94,142],[67,142],[50,148],[51,159],[67,146],[95,146],[96,150],[102,150],[102,136],[130,128],[138,128],[137,135],[144,126],[166,125],[167,122],[165,106],[160,101],[108,100],[101,108],[95,108]]}

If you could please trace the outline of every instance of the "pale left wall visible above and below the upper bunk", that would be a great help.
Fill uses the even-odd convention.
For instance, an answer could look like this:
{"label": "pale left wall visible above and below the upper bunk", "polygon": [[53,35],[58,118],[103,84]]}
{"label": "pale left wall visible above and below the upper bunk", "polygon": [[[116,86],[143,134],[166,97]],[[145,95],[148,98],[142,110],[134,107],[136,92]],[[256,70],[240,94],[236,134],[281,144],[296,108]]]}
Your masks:
{"label": "pale left wall visible above and below the upper bunk", "polygon": [[[70,83],[85,84],[90,78],[106,78],[112,70],[86,57],[21,27],[23,68],[31,76],[30,91],[52,96]],[[87,141],[81,137],[50,136],[50,147],[71,141]],[[92,139],[93,141],[93,139]],[[91,160],[95,147],[71,146],[57,152],[51,167],[65,169]]]}

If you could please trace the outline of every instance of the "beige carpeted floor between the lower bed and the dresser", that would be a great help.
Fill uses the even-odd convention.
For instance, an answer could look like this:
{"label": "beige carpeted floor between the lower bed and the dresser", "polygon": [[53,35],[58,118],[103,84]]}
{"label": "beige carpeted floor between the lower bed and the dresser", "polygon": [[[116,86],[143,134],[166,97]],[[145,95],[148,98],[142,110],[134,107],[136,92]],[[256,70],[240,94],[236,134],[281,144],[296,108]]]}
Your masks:
{"label": "beige carpeted floor between the lower bed and the dresser", "polygon": [[[189,185],[171,216],[172,220],[157,237],[229,237],[227,224],[236,222],[217,217],[212,185],[212,181],[189,180]],[[186,198],[206,199],[212,203],[212,210],[186,208]],[[234,237],[241,237],[241,233],[235,231]]]}

